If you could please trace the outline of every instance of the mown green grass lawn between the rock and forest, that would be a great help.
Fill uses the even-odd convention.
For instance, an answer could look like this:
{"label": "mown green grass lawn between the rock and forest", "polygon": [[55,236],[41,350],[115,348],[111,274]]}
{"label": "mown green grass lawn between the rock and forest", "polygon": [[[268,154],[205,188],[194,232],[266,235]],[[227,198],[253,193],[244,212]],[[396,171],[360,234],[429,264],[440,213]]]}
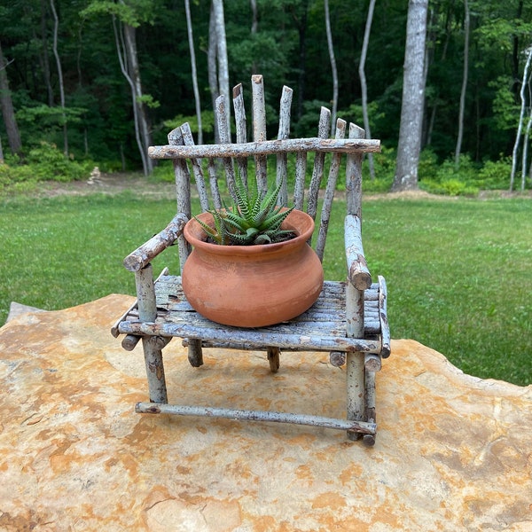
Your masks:
{"label": "mown green grass lawn between the rock and forest", "polygon": [[[330,279],[345,277],[344,208],[336,207]],[[128,192],[0,208],[0,323],[10,301],[63,309],[133,294],[122,258],[175,214],[174,200]],[[387,278],[393,338],[418,340],[481,378],[532,383],[532,200],[365,200],[364,251],[372,273]],[[176,250],[154,269],[163,265],[177,270]]]}

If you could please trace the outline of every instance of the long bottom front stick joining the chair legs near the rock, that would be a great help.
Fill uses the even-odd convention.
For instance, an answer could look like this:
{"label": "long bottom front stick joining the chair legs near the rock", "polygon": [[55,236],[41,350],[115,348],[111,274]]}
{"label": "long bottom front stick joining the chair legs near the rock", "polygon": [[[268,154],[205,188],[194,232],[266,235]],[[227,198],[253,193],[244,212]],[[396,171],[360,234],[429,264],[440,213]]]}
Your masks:
{"label": "long bottom front stick joining the chair legs near the rock", "polygon": [[137,403],[135,411],[140,414],[173,414],[176,416],[201,416],[207,418],[225,418],[246,421],[269,421],[274,423],[292,423],[293,425],[323,426],[339,430],[354,431],[361,434],[375,434],[375,423],[364,421],[325,418],[309,414],[293,414],[275,411],[246,411],[228,408],[204,406],[179,406],[176,404]]}

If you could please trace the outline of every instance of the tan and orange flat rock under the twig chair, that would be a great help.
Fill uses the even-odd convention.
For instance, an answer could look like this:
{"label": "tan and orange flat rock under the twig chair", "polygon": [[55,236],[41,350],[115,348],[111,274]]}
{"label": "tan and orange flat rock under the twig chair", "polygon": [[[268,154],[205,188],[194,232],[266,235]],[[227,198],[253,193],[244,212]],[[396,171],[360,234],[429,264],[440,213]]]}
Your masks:
{"label": "tan and orange flat rock under the twig chair", "polygon": [[[0,530],[532,530],[532,387],[481,380],[412,340],[377,378],[375,447],[326,429],[141,416],[132,298],[0,329]],[[328,356],[165,349],[170,401],[342,416]]]}

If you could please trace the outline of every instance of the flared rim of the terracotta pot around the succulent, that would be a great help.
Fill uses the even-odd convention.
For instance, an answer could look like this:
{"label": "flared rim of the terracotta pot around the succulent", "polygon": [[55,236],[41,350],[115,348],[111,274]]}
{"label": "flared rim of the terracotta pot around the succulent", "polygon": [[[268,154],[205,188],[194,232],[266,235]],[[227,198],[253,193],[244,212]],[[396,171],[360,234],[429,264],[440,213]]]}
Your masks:
{"label": "flared rim of the terracotta pot around the succulent", "polygon": [[[286,207],[284,207],[286,210]],[[214,223],[213,215],[204,212],[198,215],[200,220],[207,224]],[[312,216],[304,211],[293,209],[286,216],[286,220],[281,224],[282,229],[288,229],[296,233],[295,238],[277,242],[274,244],[257,244],[254,246],[220,246],[207,242],[207,234],[203,231],[200,223],[195,218],[191,218],[184,226],[184,238],[199,251],[206,251],[219,255],[250,255],[250,254],[272,254],[279,249],[301,246],[310,239],[314,232],[314,220]]]}

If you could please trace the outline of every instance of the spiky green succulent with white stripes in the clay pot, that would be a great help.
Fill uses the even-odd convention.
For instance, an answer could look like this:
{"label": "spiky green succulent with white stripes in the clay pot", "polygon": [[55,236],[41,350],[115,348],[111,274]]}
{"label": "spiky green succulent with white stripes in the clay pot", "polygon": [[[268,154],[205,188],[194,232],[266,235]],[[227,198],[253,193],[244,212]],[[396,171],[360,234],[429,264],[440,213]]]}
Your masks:
{"label": "spiky green succulent with white stripes in the clay pot", "polygon": [[232,207],[210,209],[215,226],[211,227],[194,216],[207,236],[216,244],[252,246],[271,244],[293,237],[293,231],[281,229],[281,223],[293,207],[276,205],[282,182],[270,192],[261,192],[256,180],[250,180],[249,190],[242,178],[235,176],[235,198]]}

